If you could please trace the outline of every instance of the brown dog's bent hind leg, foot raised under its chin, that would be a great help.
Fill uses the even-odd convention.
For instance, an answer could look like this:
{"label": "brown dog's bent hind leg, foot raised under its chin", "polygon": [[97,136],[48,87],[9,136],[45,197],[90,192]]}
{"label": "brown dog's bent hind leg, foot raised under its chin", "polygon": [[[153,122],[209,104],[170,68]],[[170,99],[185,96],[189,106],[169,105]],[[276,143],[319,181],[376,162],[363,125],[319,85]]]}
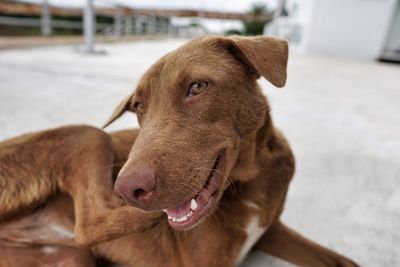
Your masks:
{"label": "brown dog's bent hind leg, foot raised under its chin", "polygon": [[76,241],[82,245],[142,232],[161,213],[128,206],[113,192],[115,150],[109,135],[68,126],[0,143],[0,220],[45,202],[58,190],[73,198]]}

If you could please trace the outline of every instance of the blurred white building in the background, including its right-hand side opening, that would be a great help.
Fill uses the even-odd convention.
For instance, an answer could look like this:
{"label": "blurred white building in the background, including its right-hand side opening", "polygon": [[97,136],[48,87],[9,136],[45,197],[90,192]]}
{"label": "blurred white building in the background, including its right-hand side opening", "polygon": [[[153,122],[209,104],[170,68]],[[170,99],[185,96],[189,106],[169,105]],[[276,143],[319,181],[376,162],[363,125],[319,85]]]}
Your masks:
{"label": "blurred white building in the background, including its right-hand side opening", "polygon": [[400,50],[399,8],[400,0],[288,0],[288,16],[265,32],[301,52],[377,59]]}

